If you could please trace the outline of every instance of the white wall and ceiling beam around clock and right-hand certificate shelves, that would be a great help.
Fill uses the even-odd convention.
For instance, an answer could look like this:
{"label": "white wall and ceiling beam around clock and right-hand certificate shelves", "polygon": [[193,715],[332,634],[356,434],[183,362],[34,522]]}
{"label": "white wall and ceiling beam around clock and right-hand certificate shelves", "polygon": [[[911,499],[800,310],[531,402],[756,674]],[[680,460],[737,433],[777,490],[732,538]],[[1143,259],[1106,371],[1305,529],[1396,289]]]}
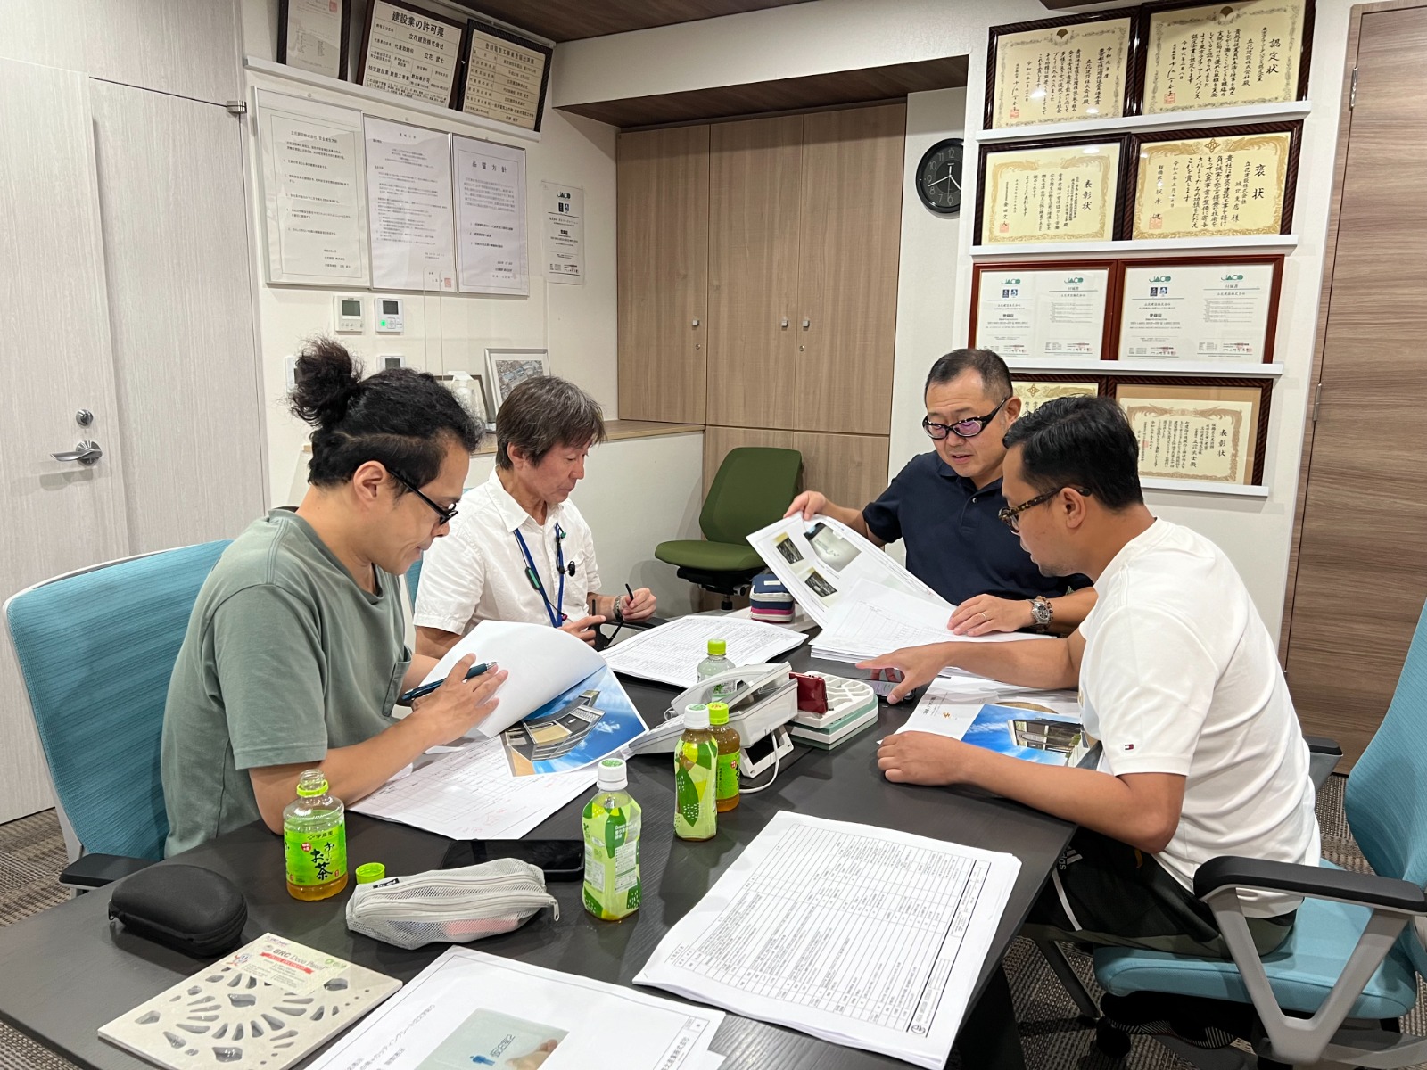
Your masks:
{"label": "white wall and ceiling beam around clock and right-hand certificate shelves", "polygon": [[[1283,611],[1299,452],[1310,384],[1333,151],[1351,0],[1317,0],[1303,130],[1294,231],[1299,245],[1284,268],[1277,360],[1286,374],[1273,392],[1264,464],[1267,499],[1152,491],[1150,506],[1213,538],[1237,565],[1274,633]],[[916,452],[918,370],[966,341],[972,261],[970,228],[932,218],[910,188],[920,151],[938,136],[965,128],[976,160],[982,124],[987,29],[1046,17],[1036,0],[818,0],[698,23],[572,41],[559,49],[554,100],[571,104],[836,70],[968,56],[965,111],[945,114],[945,94],[908,101],[908,188],[903,195],[896,385],[890,468]],[[943,134],[945,131],[945,134]],[[975,174],[969,167],[969,177]],[[970,208],[968,208],[970,210]],[[945,241],[945,244],[943,244]],[[949,250],[955,265],[948,267]],[[948,334],[946,317],[950,314]],[[943,344],[945,342],[945,344]],[[910,422],[909,422],[910,421]]]}

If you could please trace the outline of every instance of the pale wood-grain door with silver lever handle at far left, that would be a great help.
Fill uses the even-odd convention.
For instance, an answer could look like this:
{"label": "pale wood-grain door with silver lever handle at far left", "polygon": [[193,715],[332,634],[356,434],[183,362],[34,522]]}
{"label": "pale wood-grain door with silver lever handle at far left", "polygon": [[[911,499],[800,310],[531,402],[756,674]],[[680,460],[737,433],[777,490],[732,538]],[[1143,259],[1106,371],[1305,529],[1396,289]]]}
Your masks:
{"label": "pale wood-grain door with silver lever handle at far left", "polygon": [[[128,554],[124,445],[104,300],[88,78],[0,60],[0,599]],[[80,427],[76,414],[93,414]],[[94,441],[90,467],[51,459]],[[173,511],[181,501],[170,504]],[[23,700],[0,653],[0,823],[54,805]]]}

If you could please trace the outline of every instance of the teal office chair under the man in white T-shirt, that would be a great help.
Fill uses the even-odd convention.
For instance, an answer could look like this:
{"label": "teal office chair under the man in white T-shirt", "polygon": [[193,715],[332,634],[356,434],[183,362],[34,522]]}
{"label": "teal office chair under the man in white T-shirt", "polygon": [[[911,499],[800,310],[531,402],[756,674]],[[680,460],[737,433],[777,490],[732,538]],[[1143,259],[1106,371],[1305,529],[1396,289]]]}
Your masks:
{"label": "teal office chair under the man in white T-shirt", "polygon": [[[1219,857],[1194,875],[1233,962],[1123,947],[1095,953],[1109,993],[1097,1044],[1123,1054],[1124,1029],[1167,1023],[1162,1036],[1200,1067],[1250,1066],[1234,1049],[1206,1050],[1206,1030],[1254,1043],[1259,1066],[1406,1067],[1427,1039],[1396,1031],[1427,976],[1427,612],[1417,622],[1393,702],[1347,780],[1344,809],[1373,873]],[[1304,896],[1274,952],[1254,952],[1239,889]]]}

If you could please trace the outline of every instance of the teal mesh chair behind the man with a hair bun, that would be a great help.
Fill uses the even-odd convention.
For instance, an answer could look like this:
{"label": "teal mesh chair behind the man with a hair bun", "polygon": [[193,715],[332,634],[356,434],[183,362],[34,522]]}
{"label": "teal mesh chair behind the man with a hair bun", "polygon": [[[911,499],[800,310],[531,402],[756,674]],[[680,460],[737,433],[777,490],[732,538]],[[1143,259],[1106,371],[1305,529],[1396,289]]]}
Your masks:
{"label": "teal mesh chair behind the man with a hair bun", "polygon": [[71,865],[97,887],[164,856],[164,700],[198,589],[228,541],[70,572],[11,596],[6,628]]}

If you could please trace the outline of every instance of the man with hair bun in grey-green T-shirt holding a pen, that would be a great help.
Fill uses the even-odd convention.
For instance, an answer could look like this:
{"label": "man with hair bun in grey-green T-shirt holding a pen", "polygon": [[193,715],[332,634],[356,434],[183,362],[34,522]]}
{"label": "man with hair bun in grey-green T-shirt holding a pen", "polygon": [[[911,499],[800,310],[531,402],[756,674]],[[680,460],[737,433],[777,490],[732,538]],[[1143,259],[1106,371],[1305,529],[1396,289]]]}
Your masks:
{"label": "man with hair bun in grey-green T-shirt holding a pen", "polygon": [[167,855],[258,819],[281,832],[311,766],[357,802],[478,725],[505,679],[465,679],[464,658],[391,716],[435,666],[405,646],[398,578],[450,529],[481,427],[431,375],[362,378],[330,340],[304,347],[290,402],[314,428],[307,494],[223,552],[168,683]]}

